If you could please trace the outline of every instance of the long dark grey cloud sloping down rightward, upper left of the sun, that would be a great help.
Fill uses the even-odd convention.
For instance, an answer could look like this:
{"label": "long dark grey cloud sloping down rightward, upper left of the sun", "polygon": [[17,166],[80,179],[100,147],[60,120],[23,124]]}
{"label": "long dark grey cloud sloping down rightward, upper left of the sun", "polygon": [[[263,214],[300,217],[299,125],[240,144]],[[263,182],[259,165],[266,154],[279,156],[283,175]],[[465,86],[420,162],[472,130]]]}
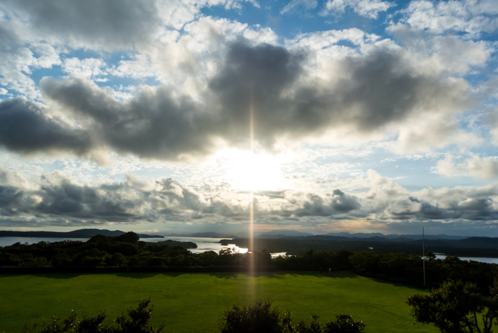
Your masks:
{"label": "long dark grey cloud sloping down rightward, upper left of the sun", "polygon": [[42,80],[44,93],[78,117],[89,120],[98,144],[142,157],[174,159],[182,153],[207,153],[216,115],[200,112],[188,98],[174,99],[166,87],[142,90],[123,103],[87,81]]}

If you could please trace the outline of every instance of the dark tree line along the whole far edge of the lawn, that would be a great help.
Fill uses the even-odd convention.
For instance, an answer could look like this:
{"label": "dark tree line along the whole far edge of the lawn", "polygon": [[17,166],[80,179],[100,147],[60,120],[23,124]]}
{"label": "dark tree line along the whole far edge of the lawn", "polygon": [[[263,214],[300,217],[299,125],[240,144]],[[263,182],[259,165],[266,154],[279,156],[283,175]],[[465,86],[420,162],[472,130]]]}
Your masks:
{"label": "dark tree line along the whole far edge of the lawn", "polygon": [[[373,251],[336,252],[310,249],[301,255],[272,258],[265,250],[236,253],[227,248],[219,252],[191,253],[181,246],[139,241],[138,235],[128,232],[120,236],[96,235],[86,242],[61,241],[36,244],[16,243],[0,247],[0,267],[273,267],[275,270],[321,271],[353,270],[367,277],[390,282],[421,285],[423,261],[420,256],[404,253]],[[489,293],[489,286],[498,275],[498,265],[463,261],[447,256],[436,259],[428,252],[425,276],[428,286],[435,287],[447,279],[475,283],[481,292]]]}

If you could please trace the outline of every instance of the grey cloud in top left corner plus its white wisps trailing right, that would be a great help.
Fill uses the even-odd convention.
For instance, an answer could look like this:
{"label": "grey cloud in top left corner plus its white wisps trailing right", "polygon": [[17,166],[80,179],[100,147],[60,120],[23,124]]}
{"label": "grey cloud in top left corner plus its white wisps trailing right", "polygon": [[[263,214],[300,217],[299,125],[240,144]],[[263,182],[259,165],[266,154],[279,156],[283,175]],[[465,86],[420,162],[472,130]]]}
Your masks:
{"label": "grey cloud in top left corner plus its white wisps trailing right", "polygon": [[[33,35],[72,48],[133,49],[149,45],[164,26],[181,29],[203,7],[241,8],[241,0],[124,0],[83,2],[3,0],[29,21]],[[248,1],[258,6],[256,1]],[[43,38],[45,37],[45,38]]]}

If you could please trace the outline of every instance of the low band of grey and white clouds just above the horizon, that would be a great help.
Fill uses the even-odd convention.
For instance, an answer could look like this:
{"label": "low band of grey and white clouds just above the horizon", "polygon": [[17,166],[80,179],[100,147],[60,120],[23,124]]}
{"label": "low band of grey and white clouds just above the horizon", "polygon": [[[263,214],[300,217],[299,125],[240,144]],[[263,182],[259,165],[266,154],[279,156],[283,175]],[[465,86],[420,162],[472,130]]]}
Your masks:
{"label": "low band of grey and white clouds just above the horizon", "polygon": [[[256,222],[332,228],[351,221],[396,229],[397,224],[440,221],[465,230],[489,227],[498,219],[497,184],[410,192],[373,170],[355,182],[367,192],[256,193]],[[242,228],[248,217],[248,193],[204,192],[171,178],[142,179],[128,173],[124,182],[90,185],[54,172],[27,184],[19,175],[0,170],[0,225],[5,226],[223,222]]]}

